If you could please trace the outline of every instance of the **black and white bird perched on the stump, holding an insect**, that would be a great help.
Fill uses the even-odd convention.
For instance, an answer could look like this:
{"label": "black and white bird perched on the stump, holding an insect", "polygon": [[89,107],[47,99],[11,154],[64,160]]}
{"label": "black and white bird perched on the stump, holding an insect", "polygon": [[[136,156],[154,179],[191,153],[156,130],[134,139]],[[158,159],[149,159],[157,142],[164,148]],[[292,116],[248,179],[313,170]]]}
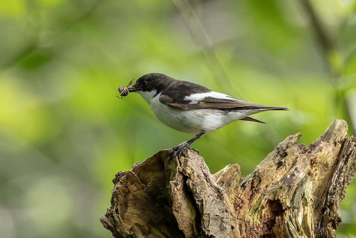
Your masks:
{"label": "black and white bird perched on the stump, holding an insect", "polygon": [[[183,149],[192,149],[199,154],[197,149],[190,147],[194,141],[234,121],[264,123],[250,115],[270,110],[289,110],[285,107],[245,102],[162,73],[145,74],[127,89],[129,93],[140,94],[161,123],[174,130],[195,135],[194,138],[174,146],[169,152],[170,160],[180,157]],[[126,91],[121,96],[127,94]]]}

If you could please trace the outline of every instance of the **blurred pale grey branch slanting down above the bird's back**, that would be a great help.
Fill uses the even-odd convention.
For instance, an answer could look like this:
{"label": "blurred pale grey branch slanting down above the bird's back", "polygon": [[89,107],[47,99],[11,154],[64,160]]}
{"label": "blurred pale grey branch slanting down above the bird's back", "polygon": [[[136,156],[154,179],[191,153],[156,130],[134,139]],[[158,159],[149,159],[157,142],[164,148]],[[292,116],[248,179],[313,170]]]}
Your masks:
{"label": "blurred pale grey branch slanting down above the bird's back", "polygon": [[[206,33],[204,26],[195,12],[192,5],[189,4],[187,0],[172,0],[174,5],[176,5],[180,14],[182,14],[185,24],[190,31],[195,43],[203,51],[208,63],[215,75],[215,78],[219,81],[219,86],[221,88],[230,88],[229,76],[227,75],[223,64],[214,48],[213,42],[210,40],[208,33]],[[240,97],[244,97],[241,91],[237,92]]]}

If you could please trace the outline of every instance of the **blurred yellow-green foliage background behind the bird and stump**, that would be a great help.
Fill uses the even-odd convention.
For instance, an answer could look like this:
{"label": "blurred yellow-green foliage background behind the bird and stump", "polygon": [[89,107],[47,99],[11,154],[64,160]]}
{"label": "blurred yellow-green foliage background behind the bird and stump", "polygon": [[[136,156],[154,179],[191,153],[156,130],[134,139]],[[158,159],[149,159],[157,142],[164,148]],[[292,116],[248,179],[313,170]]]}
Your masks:
{"label": "blurred yellow-green foliage background behind the bird and stump", "polygon": [[[312,1],[329,46],[305,0],[192,0],[197,18],[182,2],[0,3],[2,238],[111,237],[99,217],[115,173],[193,137],[159,123],[138,94],[112,97],[146,73],[290,108],[196,141],[213,173],[237,162],[246,176],[288,135],[309,145],[337,118],[353,134],[355,1]],[[356,236],[355,189],[338,237]]]}

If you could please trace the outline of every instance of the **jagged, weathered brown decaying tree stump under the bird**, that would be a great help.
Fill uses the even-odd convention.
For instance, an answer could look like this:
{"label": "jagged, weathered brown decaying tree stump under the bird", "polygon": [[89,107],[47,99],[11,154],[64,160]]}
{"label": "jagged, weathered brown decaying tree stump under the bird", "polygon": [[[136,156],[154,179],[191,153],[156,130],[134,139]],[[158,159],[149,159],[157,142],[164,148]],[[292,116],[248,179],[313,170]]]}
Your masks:
{"label": "jagged, weathered brown decaying tree stump under the bird", "polygon": [[245,178],[237,164],[211,175],[194,151],[159,151],[116,174],[100,221],[114,237],[336,237],[356,170],[346,132],[336,120],[309,147],[288,136]]}

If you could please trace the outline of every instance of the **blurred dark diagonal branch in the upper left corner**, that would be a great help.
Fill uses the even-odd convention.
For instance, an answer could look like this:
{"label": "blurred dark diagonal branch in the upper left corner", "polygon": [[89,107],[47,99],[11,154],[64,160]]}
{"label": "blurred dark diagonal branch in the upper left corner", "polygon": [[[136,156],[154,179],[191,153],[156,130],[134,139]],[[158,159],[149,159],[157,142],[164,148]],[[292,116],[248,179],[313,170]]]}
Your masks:
{"label": "blurred dark diagonal branch in the upper left corner", "polygon": [[14,53],[14,55],[12,56],[6,57],[4,61],[0,62],[0,70],[7,69],[14,66],[17,62],[21,61],[23,58],[25,58],[26,56],[30,55],[33,51],[35,51],[40,46],[40,43],[45,44],[49,41],[52,41],[54,38],[70,30],[73,26],[77,25],[79,22],[84,21],[94,12],[94,10],[101,3],[103,3],[103,1],[100,0],[95,1],[90,7],[88,7],[87,10],[83,11],[82,14],[79,15],[76,19],[74,19],[72,22],[69,22],[67,25],[63,25],[60,28],[60,30],[57,31],[56,34],[54,34],[52,37],[49,37],[46,42],[40,42],[41,31],[34,33],[31,40],[26,42],[26,44],[18,52]]}

